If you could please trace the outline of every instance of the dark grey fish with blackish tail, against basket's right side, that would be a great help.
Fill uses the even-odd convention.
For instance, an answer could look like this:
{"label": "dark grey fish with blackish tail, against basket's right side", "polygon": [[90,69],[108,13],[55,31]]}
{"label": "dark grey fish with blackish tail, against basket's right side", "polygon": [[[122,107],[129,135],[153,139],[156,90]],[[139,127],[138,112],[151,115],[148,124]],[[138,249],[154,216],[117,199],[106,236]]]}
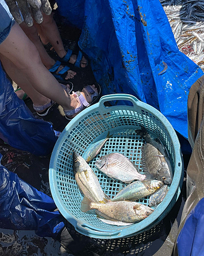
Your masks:
{"label": "dark grey fish with blackish tail, against basket's right side", "polygon": [[171,163],[162,142],[159,139],[160,143],[152,139],[143,126],[141,130],[135,132],[146,142],[141,147],[143,172],[148,172],[155,179],[171,184],[173,178]]}

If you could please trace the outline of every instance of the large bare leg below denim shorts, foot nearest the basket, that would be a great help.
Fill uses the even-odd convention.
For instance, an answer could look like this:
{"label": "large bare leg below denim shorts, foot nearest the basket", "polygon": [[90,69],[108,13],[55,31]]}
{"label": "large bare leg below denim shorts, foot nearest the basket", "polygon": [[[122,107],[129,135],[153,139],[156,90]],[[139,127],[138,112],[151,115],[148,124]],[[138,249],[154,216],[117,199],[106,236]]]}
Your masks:
{"label": "large bare leg below denim shorts, foot nearest the basket", "polygon": [[[0,53],[14,63],[36,91],[60,104],[64,110],[78,107],[79,99],[73,94],[67,94],[45,68],[36,47],[19,25],[15,24],[11,28],[8,37],[0,45]],[[87,96],[85,92],[81,94],[90,103],[89,95]]]}

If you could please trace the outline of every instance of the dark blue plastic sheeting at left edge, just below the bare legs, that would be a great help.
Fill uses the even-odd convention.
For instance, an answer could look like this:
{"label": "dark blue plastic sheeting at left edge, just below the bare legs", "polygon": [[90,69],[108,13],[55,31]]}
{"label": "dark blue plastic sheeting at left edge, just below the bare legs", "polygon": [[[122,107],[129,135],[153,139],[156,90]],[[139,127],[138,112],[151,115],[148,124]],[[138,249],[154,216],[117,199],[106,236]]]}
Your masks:
{"label": "dark blue plastic sheeting at left edge, just below the bare legs", "polygon": [[0,64],[0,138],[19,150],[46,156],[53,150],[56,135],[52,124],[34,118],[16,96]]}

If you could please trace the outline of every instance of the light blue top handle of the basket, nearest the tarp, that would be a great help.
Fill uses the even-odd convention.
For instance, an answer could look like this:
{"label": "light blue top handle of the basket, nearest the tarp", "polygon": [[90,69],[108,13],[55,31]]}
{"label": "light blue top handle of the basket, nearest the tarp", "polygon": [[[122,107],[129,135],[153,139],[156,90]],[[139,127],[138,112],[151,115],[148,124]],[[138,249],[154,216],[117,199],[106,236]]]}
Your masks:
{"label": "light blue top handle of the basket, nearest the tarp", "polygon": [[133,106],[136,106],[138,104],[138,101],[140,102],[139,99],[137,99],[135,96],[131,94],[118,93],[118,94],[105,95],[100,98],[98,103],[99,103],[99,106],[104,106],[105,108],[109,108],[109,106],[105,106],[104,103],[112,100],[127,100],[132,102]]}

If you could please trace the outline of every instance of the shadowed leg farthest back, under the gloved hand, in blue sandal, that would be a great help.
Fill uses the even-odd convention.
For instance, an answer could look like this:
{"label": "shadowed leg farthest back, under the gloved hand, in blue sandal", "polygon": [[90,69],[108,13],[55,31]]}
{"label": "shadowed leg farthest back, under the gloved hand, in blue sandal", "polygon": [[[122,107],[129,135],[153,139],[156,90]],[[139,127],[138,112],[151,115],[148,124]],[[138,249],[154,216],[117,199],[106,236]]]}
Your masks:
{"label": "shadowed leg farthest back, under the gloved hand, in blue sandal", "polygon": [[[60,58],[63,58],[66,55],[66,51],[64,49],[62,38],[60,36],[60,32],[53,18],[53,15],[43,14],[43,22],[41,24],[34,23],[34,26],[36,26],[43,44],[45,44],[45,42],[47,42],[47,39],[48,39],[50,44],[54,46],[54,49],[57,52],[58,56]],[[43,38],[46,38],[46,41],[43,41]],[[69,62],[71,64],[74,64],[76,60],[77,60],[77,55],[72,54],[70,56]],[[86,65],[87,65],[87,60],[83,56],[81,60],[81,67],[85,68]]]}

